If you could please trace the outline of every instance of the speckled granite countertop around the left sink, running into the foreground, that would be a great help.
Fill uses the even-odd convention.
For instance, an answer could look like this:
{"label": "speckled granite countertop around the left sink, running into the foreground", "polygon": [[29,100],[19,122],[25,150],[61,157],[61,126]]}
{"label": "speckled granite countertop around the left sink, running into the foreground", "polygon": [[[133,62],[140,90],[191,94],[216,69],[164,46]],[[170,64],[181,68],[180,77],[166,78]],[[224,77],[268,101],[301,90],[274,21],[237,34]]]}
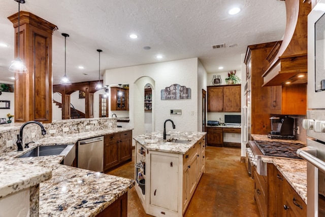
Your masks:
{"label": "speckled granite countertop around the left sink, running into the foreground", "polygon": [[[8,186],[9,189],[24,189],[26,185],[32,181],[29,176],[37,171],[42,171],[45,175],[43,178],[39,179],[44,179],[45,181],[40,183],[40,216],[95,216],[131,189],[135,185],[135,181],[61,165],[59,163],[64,156],[44,156],[21,159],[17,159],[16,157],[21,156],[24,152],[39,145],[53,143],[75,144],[80,139],[103,136],[127,130],[131,129],[114,128],[113,130],[45,137],[35,144],[31,143],[30,148],[24,148],[24,151],[10,152],[0,157],[0,176],[2,177],[0,181],[0,192],[6,188],[8,189]],[[17,173],[14,175],[17,168],[18,170],[24,168],[24,174]],[[3,170],[6,170],[6,173]],[[12,171],[11,178],[7,171]],[[3,179],[3,174],[7,173],[8,178]],[[50,178],[50,174],[52,174],[52,178]],[[46,180],[47,177],[50,179]],[[37,179],[37,177],[34,179]],[[15,183],[17,184],[14,185]]]}

